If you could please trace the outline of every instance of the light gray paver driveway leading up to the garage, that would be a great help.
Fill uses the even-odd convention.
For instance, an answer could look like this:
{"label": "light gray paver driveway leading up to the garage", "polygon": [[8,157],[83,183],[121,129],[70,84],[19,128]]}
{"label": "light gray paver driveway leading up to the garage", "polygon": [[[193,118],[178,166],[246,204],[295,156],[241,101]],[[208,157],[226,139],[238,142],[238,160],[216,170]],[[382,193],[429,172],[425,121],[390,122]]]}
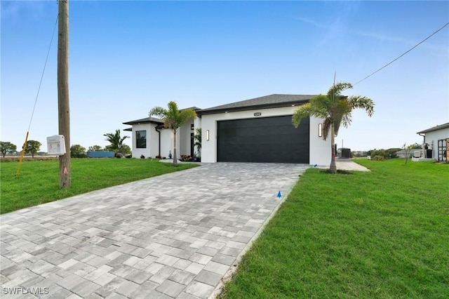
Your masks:
{"label": "light gray paver driveway leading up to the garage", "polygon": [[1,215],[1,297],[208,298],[308,167],[203,164]]}

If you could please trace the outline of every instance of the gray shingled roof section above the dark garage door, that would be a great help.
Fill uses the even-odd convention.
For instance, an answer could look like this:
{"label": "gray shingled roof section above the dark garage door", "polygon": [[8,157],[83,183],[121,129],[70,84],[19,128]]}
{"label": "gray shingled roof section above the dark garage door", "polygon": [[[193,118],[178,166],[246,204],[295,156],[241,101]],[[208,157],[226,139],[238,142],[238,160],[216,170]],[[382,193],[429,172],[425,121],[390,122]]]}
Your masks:
{"label": "gray shingled roof section above the dark garage door", "polygon": [[300,105],[309,102],[311,98],[316,95],[265,95],[260,98],[253,98],[250,100],[242,100],[239,102],[232,102],[226,105],[220,105],[207,109],[201,109],[198,114],[215,114],[229,111],[244,111],[249,109],[266,109],[277,107],[288,107],[292,105]]}

